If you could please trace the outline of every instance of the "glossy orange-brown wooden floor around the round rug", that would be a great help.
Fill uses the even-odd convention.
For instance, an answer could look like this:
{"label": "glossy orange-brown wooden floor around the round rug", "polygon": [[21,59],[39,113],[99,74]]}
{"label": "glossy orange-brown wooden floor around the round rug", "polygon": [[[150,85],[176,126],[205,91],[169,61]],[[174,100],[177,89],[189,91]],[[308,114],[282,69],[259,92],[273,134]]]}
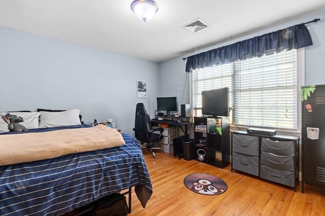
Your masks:
{"label": "glossy orange-brown wooden floor around the round rug", "polygon": [[[231,166],[220,169],[196,160],[187,161],[173,153],[157,153],[153,159],[144,151],[152,181],[153,194],[143,208],[132,193],[132,213],[135,215],[325,215],[325,189],[306,185],[301,193],[292,188],[264,181],[238,171]],[[193,173],[217,176],[228,189],[219,195],[201,195],[190,191],[183,183]]]}

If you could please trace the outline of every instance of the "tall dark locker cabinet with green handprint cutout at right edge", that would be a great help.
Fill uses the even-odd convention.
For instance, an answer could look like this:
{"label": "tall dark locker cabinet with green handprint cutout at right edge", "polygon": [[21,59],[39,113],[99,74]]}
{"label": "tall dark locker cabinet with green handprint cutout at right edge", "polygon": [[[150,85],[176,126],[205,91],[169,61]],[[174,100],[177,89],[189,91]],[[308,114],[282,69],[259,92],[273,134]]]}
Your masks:
{"label": "tall dark locker cabinet with green handprint cutout at right edge", "polygon": [[325,85],[302,87],[302,192],[305,183],[325,188]]}

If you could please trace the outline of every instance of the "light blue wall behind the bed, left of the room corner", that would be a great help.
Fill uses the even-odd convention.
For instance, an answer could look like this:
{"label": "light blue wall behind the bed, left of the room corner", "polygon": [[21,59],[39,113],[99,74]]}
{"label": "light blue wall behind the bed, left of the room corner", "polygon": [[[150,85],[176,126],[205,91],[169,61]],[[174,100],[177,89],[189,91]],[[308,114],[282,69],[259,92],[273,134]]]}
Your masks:
{"label": "light blue wall behind the bed, left of the room corner", "polygon": [[[85,123],[112,118],[133,134],[138,102],[154,115],[158,72],[158,63],[0,27],[0,111],[78,108]],[[137,98],[137,80],[147,98]]]}

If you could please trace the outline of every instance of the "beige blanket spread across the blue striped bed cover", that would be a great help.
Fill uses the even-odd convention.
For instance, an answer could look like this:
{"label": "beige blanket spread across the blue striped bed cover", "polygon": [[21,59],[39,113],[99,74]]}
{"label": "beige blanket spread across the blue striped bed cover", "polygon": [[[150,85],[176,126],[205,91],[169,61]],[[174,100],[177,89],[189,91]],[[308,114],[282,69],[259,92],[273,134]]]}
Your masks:
{"label": "beige blanket spread across the blue striped bed cover", "polygon": [[55,158],[124,144],[119,132],[103,124],[43,133],[1,135],[0,165]]}

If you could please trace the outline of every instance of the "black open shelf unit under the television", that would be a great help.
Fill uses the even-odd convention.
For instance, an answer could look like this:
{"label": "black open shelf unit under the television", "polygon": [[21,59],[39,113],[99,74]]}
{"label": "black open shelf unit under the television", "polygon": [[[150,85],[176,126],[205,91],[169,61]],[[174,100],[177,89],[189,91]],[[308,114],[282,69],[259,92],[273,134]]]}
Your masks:
{"label": "black open shelf unit under the television", "polygon": [[[223,168],[230,164],[230,126],[226,117],[194,117],[195,158]],[[202,158],[202,157],[201,157]]]}

